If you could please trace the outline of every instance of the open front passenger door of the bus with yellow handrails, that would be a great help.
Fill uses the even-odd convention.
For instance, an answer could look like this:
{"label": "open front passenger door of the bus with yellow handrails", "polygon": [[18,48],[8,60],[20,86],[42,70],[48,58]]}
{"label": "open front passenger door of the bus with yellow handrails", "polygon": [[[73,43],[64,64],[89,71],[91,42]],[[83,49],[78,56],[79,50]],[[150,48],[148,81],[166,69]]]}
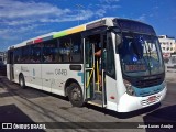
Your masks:
{"label": "open front passenger door of the bus with yellow handrails", "polygon": [[87,35],[85,38],[85,97],[88,103],[98,107],[106,107],[106,96],[103,96],[106,86],[102,88],[102,81],[100,82],[103,72],[100,51],[103,48],[102,44],[106,38],[105,32]]}

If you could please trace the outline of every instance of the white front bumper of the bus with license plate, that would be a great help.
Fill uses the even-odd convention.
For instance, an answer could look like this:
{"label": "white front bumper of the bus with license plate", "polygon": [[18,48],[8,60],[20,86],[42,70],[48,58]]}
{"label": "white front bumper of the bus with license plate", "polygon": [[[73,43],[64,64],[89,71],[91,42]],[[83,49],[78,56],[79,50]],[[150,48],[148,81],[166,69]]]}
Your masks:
{"label": "white front bumper of the bus with license plate", "polygon": [[162,91],[146,97],[129,96],[125,92],[119,100],[118,112],[130,112],[158,103],[165,98],[166,92],[166,87]]}

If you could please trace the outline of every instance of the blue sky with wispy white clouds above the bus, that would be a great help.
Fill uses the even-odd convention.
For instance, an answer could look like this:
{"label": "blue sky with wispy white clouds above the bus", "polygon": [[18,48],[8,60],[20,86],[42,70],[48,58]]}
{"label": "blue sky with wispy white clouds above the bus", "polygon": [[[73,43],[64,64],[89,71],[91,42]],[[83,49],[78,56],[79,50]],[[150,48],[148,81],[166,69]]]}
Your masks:
{"label": "blue sky with wispy white clouds above the bus", "polygon": [[0,0],[0,51],[103,16],[151,24],[176,37],[176,0]]}

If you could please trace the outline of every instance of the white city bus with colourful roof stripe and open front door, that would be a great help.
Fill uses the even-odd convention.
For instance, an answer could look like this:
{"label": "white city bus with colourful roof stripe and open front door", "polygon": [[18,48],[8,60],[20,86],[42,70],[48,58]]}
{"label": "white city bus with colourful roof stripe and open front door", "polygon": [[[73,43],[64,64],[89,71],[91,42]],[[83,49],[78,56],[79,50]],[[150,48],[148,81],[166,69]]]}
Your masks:
{"label": "white city bus with colourful roof stripe and open front door", "polygon": [[[106,52],[96,56],[99,50]],[[10,46],[7,74],[21,88],[68,97],[75,107],[91,103],[117,112],[158,103],[167,91],[154,29],[121,18],[102,18]]]}

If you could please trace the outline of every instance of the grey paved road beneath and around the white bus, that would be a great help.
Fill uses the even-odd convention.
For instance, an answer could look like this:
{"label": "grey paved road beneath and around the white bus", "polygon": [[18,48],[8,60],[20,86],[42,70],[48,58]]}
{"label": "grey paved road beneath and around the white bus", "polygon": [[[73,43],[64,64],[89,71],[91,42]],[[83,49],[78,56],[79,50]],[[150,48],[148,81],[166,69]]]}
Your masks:
{"label": "grey paved road beneath and around the white bus", "polygon": [[[134,127],[136,127],[136,123],[132,123],[139,122],[138,125],[145,125],[147,124],[147,122],[176,122],[175,95],[176,84],[169,82],[167,96],[161,106],[156,105],[144,110],[120,114],[118,112],[105,110],[90,105],[86,105],[82,108],[76,108],[73,107],[64,97],[52,95],[33,88],[21,89],[16,84],[10,82],[6,77],[0,76],[0,122],[56,122],[56,124],[47,123],[47,127],[55,129],[41,130],[42,132],[57,132],[58,125],[79,128],[59,130],[64,132],[176,132],[176,130],[173,129],[134,129]],[[79,123],[62,124],[59,122]],[[113,125],[110,125],[109,123],[103,122],[119,123],[117,123],[117,125],[114,125],[116,123],[113,123]],[[80,129],[82,127],[90,129]],[[96,129],[96,127],[107,129],[100,130]],[[108,129],[113,127],[119,127],[122,129]],[[24,130],[21,131],[25,132]],[[31,132],[31,130],[29,131]]]}

